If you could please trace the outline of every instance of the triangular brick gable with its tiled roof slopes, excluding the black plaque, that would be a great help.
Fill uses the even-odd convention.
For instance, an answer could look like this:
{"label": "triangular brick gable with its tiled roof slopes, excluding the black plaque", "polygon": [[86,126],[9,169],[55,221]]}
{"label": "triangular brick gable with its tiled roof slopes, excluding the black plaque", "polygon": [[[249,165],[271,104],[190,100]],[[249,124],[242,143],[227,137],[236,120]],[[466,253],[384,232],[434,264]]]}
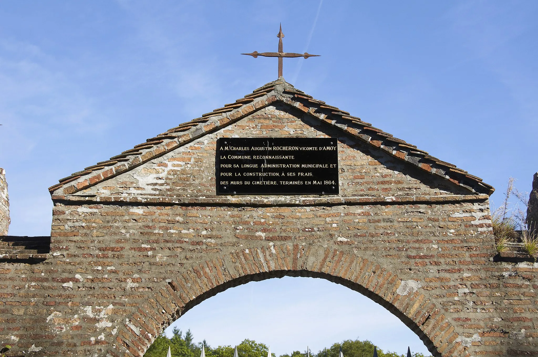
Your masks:
{"label": "triangular brick gable with its tiled roof slopes, excluding the black plaque", "polygon": [[283,80],[66,177],[49,190],[53,198],[215,195],[216,138],[226,136],[337,137],[342,197],[493,192],[482,179]]}

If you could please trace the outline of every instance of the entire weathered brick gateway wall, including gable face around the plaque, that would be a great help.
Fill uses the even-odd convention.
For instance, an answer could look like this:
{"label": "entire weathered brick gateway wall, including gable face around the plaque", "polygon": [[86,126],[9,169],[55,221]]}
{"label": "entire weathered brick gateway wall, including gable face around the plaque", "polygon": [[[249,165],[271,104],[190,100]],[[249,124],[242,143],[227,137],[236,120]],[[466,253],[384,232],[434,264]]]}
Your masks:
{"label": "entire weathered brick gateway wall, including gable face around the plaque", "polygon": [[[226,135],[338,138],[340,194],[215,196]],[[0,262],[10,355],[139,356],[203,299],[285,275],[369,296],[435,356],[538,350],[538,264],[494,261],[487,195],[284,105],[69,190],[53,196],[48,259]]]}

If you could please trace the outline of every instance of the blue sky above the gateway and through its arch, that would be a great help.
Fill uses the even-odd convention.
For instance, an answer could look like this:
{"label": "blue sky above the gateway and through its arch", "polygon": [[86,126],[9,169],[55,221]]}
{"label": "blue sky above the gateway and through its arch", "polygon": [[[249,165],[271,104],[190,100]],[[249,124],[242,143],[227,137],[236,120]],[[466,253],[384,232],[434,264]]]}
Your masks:
{"label": "blue sky above the gateway and through its arch", "polygon": [[[9,183],[10,234],[49,234],[47,187],[59,178],[274,80],[275,59],[240,53],[276,51],[280,22],[284,51],[321,55],[284,60],[284,77],[295,87],[484,178],[497,188],[494,203],[502,201],[509,176],[529,191],[538,170],[537,15],[534,1],[2,2],[0,167]],[[265,316],[261,302],[269,292],[289,294],[272,297],[276,311],[316,306],[316,299],[345,291],[308,279],[250,283],[209,299],[178,323],[213,344],[268,341],[275,330],[251,335],[257,330],[241,320]],[[237,336],[226,342],[219,337],[226,333],[211,330],[214,314],[206,310],[245,294],[256,296],[248,311],[238,304],[220,317],[226,333]],[[338,309],[326,304],[309,316],[317,318],[308,326],[317,326],[319,338],[290,321],[295,328],[271,342],[273,352],[357,337],[376,305],[350,294]],[[367,308],[357,310],[356,299]],[[327,311],[341,314],[347,330]],[[407,327],[400,325],[403,334]],[[327,331],[338,333],[325,338]],[[384,346],[382,336],[375,338]]]}

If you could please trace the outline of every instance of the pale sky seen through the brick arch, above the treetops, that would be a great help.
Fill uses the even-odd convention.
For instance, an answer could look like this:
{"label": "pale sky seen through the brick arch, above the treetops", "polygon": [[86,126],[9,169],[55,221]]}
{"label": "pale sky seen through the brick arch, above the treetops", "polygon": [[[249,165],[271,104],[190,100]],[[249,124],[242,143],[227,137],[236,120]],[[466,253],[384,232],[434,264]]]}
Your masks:
{"label": "pale sky seen through the brick arch, above the treetops", "polygon": [[[223,329],[223,327],[225,327]],[[165,333],[190,329],[194,341],[235,346],[245,338],[275,355],[317,353],[347,339],[369,340],[399,354],[430,353],[413,331],[371,299],[324,279],[282,277],[249,282],[217,294],[186,312]],[[304,345],[304,346],[303,346]],[[405,351],[404,351],[405,350]],[[197,356],[196,356],[197,357]]]}

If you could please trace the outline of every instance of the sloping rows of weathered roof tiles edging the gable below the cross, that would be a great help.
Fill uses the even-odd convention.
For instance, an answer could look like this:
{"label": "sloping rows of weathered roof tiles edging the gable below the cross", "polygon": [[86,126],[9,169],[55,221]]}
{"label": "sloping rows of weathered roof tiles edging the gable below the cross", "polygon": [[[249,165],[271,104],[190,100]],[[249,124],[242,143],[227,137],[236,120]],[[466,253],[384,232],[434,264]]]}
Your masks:
{"label": "sloping rows of weathered roof tiles edging the gable below the cross", "polygon": [[[132,149],[112,156],[110,160],[98,162],[96,165],[64,177],[59,180],[59,184],[49,188],[49,191],[51,194],[55,192],[56,194],[69,195],[87,189],[109,177],[116,176],[156,156],[185,145],[203,134],[218,130],[278,100],[309,113],[326,124],[336,126],[353,137],[382,149],[400,160],[412,163],[472,192],[491,195],[494,191],[494,188],[484,183],[482,178],[470,175],[465,170],[457,168],[456,165],[437,159],[429,155],[428,152],[418,149],[415,145],[408,144],[405,140],[394,138],[392,134],[386,133],[358,117],[351,116],[349,112],[314,99],[285,82],[284,78],[267,83],[254,90],[252,94],[237,99],[235,103],[226,104],[222,108],[203,114],[200,118],[180,124],[156,137],[147,139],[146,142],[136,145]],[[73,184],[67,185],[70,182]],[[63,192],[56,192],[62,187]]]}

